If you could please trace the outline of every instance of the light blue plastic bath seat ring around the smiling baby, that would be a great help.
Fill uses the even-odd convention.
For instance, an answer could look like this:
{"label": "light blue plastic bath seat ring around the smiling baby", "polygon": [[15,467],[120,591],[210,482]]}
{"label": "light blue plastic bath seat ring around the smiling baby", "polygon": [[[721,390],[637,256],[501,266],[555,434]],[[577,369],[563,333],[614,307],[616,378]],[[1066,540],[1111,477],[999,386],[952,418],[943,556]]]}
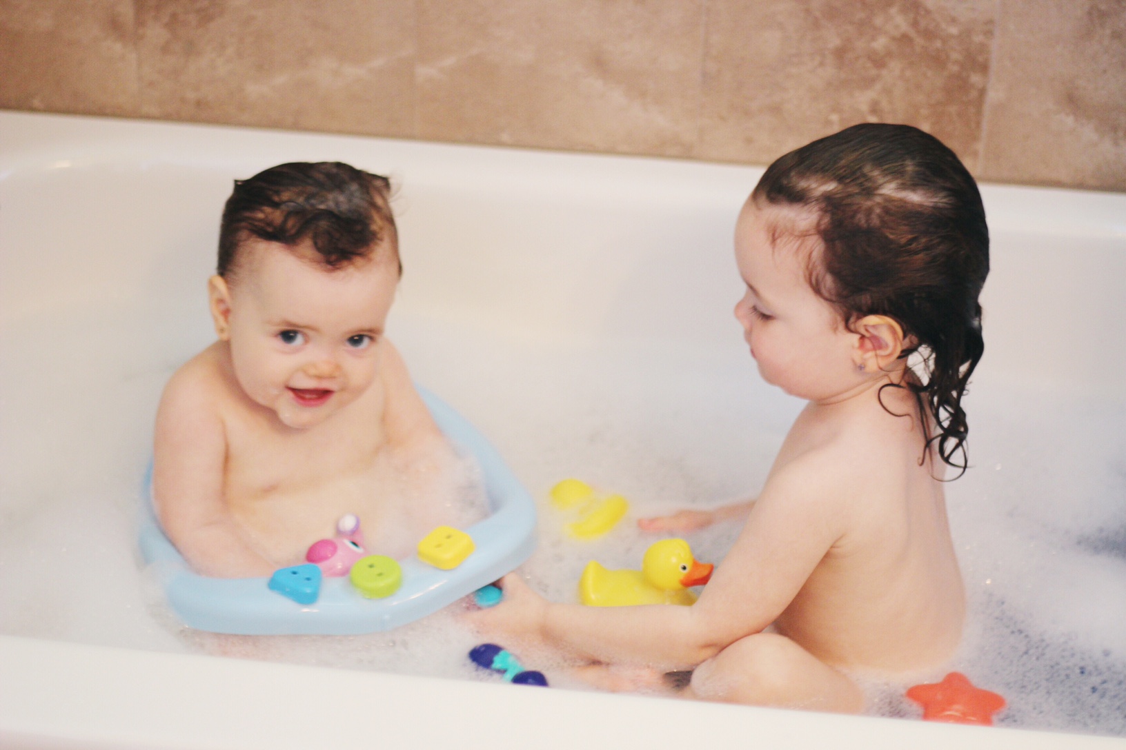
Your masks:
{"label": "light blue plastic bath seat ring around the smiling baby", "polygon": [[400,560],[402,587],[364,598],[348,577],[325,578],[320,598],[303,605],[269,590],[267,578],[208,578],[194,572],[157,522],[151,469],[145,477],[141,554],[162,584],[169,606],[197,630],[239,635],[357,635],[387,631],[441,609],[513,570],[536,548],[536,506],[489,441],[432,394],[420,391],[446,436],[481,468],[489,517],[465,530],[476,550],[457,568],[438,570],[414,557]]}

